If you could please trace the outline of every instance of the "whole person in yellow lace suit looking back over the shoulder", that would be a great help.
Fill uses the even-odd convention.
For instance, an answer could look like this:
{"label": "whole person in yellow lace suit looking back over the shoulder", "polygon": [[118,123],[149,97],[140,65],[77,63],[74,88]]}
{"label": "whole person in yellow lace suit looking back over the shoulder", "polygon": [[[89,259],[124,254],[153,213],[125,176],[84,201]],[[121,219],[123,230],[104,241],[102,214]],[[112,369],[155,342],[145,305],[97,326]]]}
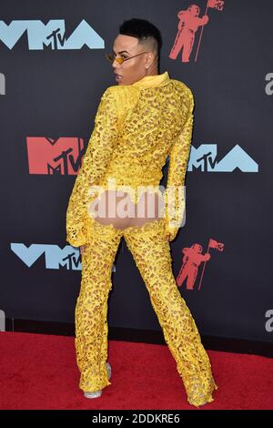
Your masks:
{"label": "whole person in yellow lace suit looking back over the shoulder", "polygon": [[[80,247],[82,254],[81,290],[76,301],[79,387],[86,398],[96,398],[111,384],[107,300],[116,250],[124,236],[177,362],[188,403],[199,406],[213,401],[217,385],[172,271],[169,241],[177,236],[177,220],[182,222],[185,205],[179,191],[172,199],[166,198],[167,192],[160,198],[158,191],[167,157],[167,190],[184,186],[194,98],[167,71],[158,74],[161,45],[160,31],[147,20],[134,18],[120,26],[113,53],[107,56],[117,85],[108,87],[101,98],[68,203],[66,239]],[[157,208],[162,209],[162,200],[167,201],[165,216],[160,209],[153,216],[147,213],[151,195]],[[126,209],[121,212],[125,197]],[[141,218],[136,213],[139,203],[144,209]]]}

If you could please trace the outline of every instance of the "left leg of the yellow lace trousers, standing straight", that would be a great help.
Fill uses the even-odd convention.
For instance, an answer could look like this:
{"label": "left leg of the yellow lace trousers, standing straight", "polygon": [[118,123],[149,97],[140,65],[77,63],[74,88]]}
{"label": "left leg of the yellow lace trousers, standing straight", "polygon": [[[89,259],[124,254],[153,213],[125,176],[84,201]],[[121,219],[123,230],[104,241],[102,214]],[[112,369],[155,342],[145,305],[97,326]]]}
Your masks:
{"label": "left leg of the yellow lace trousers, standing straight", "polygon": [[76,301],[76,362],[79,387],[86,392],[103,389],[107,379],[107,300],[121,231],[88,220],[86,249],[82,254],[81,288]]}

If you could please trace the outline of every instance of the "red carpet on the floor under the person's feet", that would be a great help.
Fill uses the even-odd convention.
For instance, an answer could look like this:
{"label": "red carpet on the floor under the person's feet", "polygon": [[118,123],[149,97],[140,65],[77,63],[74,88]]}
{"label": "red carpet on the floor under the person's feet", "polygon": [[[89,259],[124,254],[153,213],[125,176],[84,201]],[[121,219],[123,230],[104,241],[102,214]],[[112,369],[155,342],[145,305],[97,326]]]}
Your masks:
{"label": "red carpet on the floor under the person's feet", "polygon": [[[109,342],[112,384],[87,400],[74,338],[0,332],[0,409],[193,409],[167,346]],[[218,390],[202,410],[273,409],[273,360],[208,352]]]}

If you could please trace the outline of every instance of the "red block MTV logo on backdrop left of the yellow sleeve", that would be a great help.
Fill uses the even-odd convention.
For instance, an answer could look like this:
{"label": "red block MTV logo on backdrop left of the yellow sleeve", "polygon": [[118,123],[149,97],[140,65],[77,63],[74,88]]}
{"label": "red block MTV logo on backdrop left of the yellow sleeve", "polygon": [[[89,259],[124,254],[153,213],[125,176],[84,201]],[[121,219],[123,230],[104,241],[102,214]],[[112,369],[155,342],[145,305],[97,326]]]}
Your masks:
{"label": "red block MTV logo on backdrop left of the yellow sleeve", "polygon": [[27,137],[29,174],[76,175],[84,156],[82,138]]}

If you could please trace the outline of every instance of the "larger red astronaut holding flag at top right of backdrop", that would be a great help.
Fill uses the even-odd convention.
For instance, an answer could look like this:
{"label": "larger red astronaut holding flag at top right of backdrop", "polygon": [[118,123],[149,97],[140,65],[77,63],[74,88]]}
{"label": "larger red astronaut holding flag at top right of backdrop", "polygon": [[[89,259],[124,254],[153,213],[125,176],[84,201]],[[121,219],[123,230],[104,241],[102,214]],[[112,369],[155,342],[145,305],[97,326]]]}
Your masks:
{"label": "larger red astronaut holding flag at top right of backdrop", "polygon": [[201,8],[198,5],[189,5],[186,10],[180,10],[177,13],[179,20],[177,25],[177,36],[169,57],[171,59],[177,59],[177,56],[182,49],[181,62],[188,63],[195,46],[196,33],[200,29],[198,32],[199,39],[197,42],[197,51],[195,56],[195,62],[197,62],[204,26],[208,24],[210,19],[207,15],[208,10],[214,9],[217,12],[221,12],[224,8],[224,4],[225,2],[220,0],[207,0],[204,15],[202,15]]}

